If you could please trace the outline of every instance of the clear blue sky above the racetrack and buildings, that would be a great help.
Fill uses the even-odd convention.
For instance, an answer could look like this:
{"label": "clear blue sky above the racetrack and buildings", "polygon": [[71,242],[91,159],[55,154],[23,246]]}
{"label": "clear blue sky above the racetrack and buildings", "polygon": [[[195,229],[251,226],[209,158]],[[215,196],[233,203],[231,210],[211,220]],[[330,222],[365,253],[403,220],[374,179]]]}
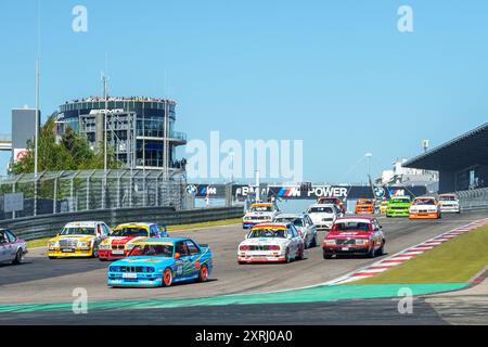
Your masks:
{"label": "clear blue sky above the racetrack and buildings", "polygon": [[[363,181],[365,167],[344,174],[365,152],[378,174],[488,119],[487,1],[40,2],[44,115],[100,94],[107,52],[112,94],[177,100],[189,139],[304,139],[313,181]],[[36,3],[0,7],[0,133],[35,102]],[[397,30],[401,4],[412,34]]]}

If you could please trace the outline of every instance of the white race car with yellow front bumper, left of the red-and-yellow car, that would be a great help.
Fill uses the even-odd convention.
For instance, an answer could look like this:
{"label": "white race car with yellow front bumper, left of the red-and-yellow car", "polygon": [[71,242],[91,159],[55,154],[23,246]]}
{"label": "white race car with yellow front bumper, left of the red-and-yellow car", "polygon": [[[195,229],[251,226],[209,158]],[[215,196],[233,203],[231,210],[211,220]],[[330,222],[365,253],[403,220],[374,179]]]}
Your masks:
{"label": "white race car with yellow front bumper, left of the red-and-yellow car", "polygon": [[48,257],[73,258],[99,256],[100,243],[108,237],[111,229],[103,221],[67,223],[57,236],[48,243]]}

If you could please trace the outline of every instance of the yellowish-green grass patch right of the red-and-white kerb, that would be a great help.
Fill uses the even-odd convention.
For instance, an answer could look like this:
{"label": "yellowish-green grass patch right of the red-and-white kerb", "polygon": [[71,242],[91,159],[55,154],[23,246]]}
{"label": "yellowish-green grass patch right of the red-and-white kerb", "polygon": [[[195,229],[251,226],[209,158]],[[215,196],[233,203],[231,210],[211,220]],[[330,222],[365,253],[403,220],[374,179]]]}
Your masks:
{"label": "yellowish-green grass patch right of the red-and-white kerb", "polygon": [[354,284],[467,282],[487,266],[488,227],[484,227]]}

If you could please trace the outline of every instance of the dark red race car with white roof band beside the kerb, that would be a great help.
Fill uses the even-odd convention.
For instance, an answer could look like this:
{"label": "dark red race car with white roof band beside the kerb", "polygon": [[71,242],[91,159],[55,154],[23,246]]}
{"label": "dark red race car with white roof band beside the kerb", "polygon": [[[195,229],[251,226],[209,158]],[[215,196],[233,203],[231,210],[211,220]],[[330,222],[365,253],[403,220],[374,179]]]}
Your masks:
{"label": "dark red race car with white roof band beside the kerb", "polygon": [[386,239],[376,218],[337,218],[323,241],[323,258],[334,255],[368,255],[371,258],[385,254]]}

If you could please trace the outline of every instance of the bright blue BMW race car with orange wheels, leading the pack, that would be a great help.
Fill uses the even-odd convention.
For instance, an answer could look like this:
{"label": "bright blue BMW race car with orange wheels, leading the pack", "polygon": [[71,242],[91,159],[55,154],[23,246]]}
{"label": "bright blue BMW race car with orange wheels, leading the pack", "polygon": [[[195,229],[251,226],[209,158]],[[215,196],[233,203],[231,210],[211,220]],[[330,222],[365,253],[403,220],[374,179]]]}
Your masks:
{"label": "bright blue BMW race car with orange wheels, leading the pack", "polygon": [[146,239],[129,257],[108,268],[108,286],[156,287],[178,282],[205,282],[213,270],[211,252],[191,239]]}

